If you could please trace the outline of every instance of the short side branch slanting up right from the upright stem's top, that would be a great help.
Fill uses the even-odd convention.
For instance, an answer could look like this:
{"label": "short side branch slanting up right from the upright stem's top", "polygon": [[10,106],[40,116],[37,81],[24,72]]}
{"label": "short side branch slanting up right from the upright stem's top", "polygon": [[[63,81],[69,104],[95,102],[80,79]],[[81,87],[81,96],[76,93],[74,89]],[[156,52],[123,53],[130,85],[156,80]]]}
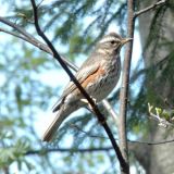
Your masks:
{"label": "short side branch slanting up right from the upright stem's top", "polygon": [[154,4],[151,4],[150,7],[146,8],[146,9],[142,9],[142,10],[139,10],[138,12],[135,12],[134,13],[134,18],[136,18],[137,16],[144,14],[144,13],[147,13],[148,11],[150,10],[154,10],[159,5],[163,5],[165,4],[167,0],[161,0],[161,1],[158,1],[156,2]]}

